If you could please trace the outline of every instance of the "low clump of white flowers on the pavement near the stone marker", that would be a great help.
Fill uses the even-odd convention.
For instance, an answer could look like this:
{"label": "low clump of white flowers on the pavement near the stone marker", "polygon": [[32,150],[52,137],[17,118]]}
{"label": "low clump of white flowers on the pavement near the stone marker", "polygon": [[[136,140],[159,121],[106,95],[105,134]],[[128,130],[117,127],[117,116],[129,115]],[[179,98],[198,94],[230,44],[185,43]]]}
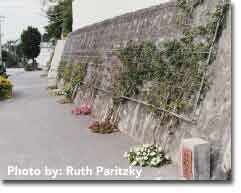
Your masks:
{"label": "low clump of white flowers on the pavement near the stone marker", "polygon": [[160,145],[144,144],[131,148],[125,152],[124,157],[133,166],[160,167],[171,163],[171,159],[166,155]]}

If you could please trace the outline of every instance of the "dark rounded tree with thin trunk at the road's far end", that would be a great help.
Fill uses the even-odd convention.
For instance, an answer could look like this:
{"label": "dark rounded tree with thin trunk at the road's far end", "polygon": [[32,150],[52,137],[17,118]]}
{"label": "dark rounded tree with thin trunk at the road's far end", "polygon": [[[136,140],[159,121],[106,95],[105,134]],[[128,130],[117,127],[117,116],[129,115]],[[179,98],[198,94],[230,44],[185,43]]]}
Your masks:
{"label": "dark rounded tree with thin trunk at the road's far end", "polygon": [[40,53],[41,33],[37,28],[29,26],[21,35],[21,47],[27,59],[32,59],[33,70],[35,69],[35,58]]}

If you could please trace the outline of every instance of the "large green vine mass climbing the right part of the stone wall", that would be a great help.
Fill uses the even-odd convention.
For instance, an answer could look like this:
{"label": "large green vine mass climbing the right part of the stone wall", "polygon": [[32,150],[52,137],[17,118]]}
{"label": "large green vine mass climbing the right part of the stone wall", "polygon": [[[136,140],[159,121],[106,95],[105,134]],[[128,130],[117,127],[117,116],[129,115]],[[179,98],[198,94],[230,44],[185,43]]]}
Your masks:
{"label": "large green vine mass climbing the right part of the stone wall", "polygon": [[[201,3],[203,1],[177,1],[176,21],[183,29],[182,38],[160,45],[130,41],[127,47],[119,51],[123,69],[120,77],[113,82],[115,105],[122,102],[122,96],[144,95],[143,98],[156,107],[176,113],[192,112],[198,90],[201,88],[204,95],[208,88],[206,63],[208,60],[211,64],[215,59],[215,43],[225,27],[229,6],[228,3],[217,5],[209,14],[206,25],[186,25],[183,19],[190,20],[194,9]],[[146,81],[152,82],[152,86],[143,91]],[[162,113],[161,117],[170,121],[170,116],[165,114]]]}

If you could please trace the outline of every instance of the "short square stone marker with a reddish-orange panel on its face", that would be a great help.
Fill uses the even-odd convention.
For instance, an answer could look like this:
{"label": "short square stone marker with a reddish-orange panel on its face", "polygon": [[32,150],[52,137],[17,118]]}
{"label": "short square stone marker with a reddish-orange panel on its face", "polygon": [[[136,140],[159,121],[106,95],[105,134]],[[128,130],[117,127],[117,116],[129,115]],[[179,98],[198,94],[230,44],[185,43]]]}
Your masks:
{"label": "short square stone marker with a reddish-orange panel on its face", "polygon": [[210,144],[207,141],[191,138],[182,142],[181,175],[185,180],[210,180]]}

